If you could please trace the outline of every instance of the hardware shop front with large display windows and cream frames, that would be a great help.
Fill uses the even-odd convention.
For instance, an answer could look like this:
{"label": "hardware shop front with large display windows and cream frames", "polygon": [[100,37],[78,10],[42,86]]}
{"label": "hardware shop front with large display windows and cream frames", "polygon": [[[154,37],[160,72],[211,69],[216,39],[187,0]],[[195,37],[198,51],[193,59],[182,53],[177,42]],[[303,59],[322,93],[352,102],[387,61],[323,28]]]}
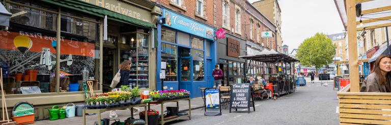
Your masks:
{"label": "hardware shop front with large display windows and cream frames", "polygon": [[[123,1],[109,1],[102,6],[87,2],[90,4],[69,0],[7,1],[6,8],[12,16],[8,30],[0,31],[0,66],[9,108],[27,101],[37,109],[36,118],[45,119],[52,105],[85,101],[83,81],[92,81],[95,93],[102,93],[102,84],[109,85],[107,79],[112,79],[123,60],[144,67],[154,61],[156,57],[149,54],[156,50],[151,44],[156,30],[153,22],[160,13],[154,6],[145,7],[148,10]],[[107,4],[132,13],[105,9],[103,5]],[[104,30],[104,22],[108,30]],[[106,33],[108,38],[104,40]],[[154,89],[150,84],[154,77],[139,76],[154,75],[155,70],[145,72],[150,68],[154,67],[134,66],[136,80],[129,84]],[[35,87],[38,91],[25,90]]]}

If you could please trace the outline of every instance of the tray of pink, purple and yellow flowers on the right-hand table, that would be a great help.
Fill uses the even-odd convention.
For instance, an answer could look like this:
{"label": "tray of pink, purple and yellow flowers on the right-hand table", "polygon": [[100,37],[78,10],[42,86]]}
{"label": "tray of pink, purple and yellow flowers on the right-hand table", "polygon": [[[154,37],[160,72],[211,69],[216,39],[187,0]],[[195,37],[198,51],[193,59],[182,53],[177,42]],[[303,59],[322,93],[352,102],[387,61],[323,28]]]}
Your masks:
{"label": "tray of pink, purple and yellow flowers on the right-hand table", "polygon": [[164,91],[152,91],[149,93],[152,96],[152,100],[154,101],[165,101],[165,100],[174,100],[174,99],[182,99],[188,98],[190,96],[190,92],[186,90],[164,90]]}

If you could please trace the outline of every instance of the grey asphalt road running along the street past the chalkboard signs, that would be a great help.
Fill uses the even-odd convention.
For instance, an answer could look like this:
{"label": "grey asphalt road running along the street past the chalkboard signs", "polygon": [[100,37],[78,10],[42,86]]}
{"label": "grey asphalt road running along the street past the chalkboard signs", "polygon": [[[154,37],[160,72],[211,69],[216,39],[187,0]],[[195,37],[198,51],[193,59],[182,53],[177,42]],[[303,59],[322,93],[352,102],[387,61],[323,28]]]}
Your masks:
{"label": "grey asphalt road running along the street past the chalkboard signs", "polygon": [[320,86],[320,81],[310,84],[307,80],[307,86],[297,87],[295,93],[275,101],[256,101],[255,112],[238,109],[229,113],[229,109],[223,109],[221,116],[204,116],[204,110],[195,109],[191,120],[168,124],[339,124],[336,92],[332,80],[328,80],[327,87]]}

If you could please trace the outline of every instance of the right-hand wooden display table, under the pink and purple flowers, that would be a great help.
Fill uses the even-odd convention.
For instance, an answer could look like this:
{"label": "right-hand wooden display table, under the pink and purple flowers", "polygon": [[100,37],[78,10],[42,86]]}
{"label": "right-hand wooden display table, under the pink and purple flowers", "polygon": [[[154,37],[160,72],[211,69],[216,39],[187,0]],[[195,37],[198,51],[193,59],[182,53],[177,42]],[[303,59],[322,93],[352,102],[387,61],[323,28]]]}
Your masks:
{"label": "right-hand wooden display table, under the pink and purple flowers", "polygon": [[[167,103],[167,102],[177,102],[177,107],[179,107],[179,101],[182,101],[182,100],[188,100],[189,101],[189,114],[187,115],[183,115],[183,116],[178,116],[176,118],[171,118],[171,119],[167,119],[167,120],[164,120],[164,103]],[[173,120],[179,120],[179,119],[182,119],[182,118],[185,118],[185,117],[189,117],[189,120],[191,120],[191,103],[190,103],[190,98],[183,98],[183,99],[174,99],[174,100],[165,100],[165,101],[152,101],[150,103],[148,103],[148,109],[150,109],[150,104],[160,104],[161,106],[161,110],[160,110],[160,114],[161,114],[161,119],[158,121],[158,123],[160,123],[161,125],[163,125],[164,123],[166,122],[170,122],[170,121],[173,121]]]}

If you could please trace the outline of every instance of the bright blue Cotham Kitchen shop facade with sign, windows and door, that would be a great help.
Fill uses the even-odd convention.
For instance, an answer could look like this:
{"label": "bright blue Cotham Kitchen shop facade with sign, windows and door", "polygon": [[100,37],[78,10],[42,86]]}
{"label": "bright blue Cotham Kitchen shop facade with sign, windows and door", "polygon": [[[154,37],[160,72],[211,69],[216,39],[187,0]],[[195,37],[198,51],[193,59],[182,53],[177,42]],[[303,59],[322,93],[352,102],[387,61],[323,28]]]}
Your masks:
{"label": "bright blue Cotham Kitchen shop facade with sign, windows and door", "polygon": [[185,89],[191,98],[201,97],[200,88],[213,87],[215,28],[169,9],[162,12],[163,21],[157,25],[156,89]]}

